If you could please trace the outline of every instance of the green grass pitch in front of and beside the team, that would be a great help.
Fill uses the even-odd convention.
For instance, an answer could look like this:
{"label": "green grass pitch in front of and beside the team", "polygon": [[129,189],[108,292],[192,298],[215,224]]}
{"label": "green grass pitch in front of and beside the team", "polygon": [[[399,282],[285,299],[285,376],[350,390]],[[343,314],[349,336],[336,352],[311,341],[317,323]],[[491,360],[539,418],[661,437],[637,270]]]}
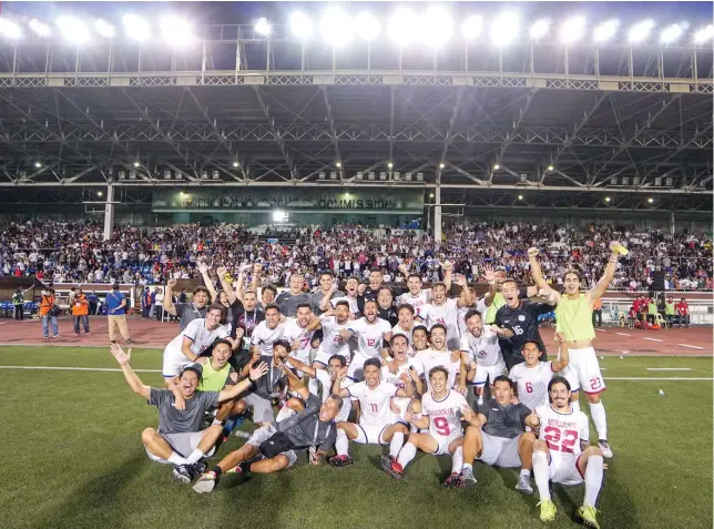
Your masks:
{"label": "green grass pitch in front of and beside the team", "polygon": [[[2,366],[109,367],[108,349],[0,347]],[[136,369],[160,369],[161,352],[134,350]],[[609,377],[712,378],[711,358],[609,357]],[[688,372],[649,372],[683,367]],[[160,373],[140,374],[152,385]],[[419,455],[401,481],[377,468],[379,447],[350,447],[356,465],[298,465],[273,476],[223,479],[196,495],[151,462],[140,433],[155,408],[133,395],[121,373],[0,369],[3,529],[419,529],[543,526],[538,499],[513,487],[518,471],[476,466],[478,485],[443,490],[450,461]],[[603,528],[711,528],[712,382],[606,380],[614,458],[605,472]],[[665,395],[660,395],[660,389]],[[583,406],[588,411],[588,406]],[[594,428],[591,425],[594,438]],[[242,439],[232,437],[228,448]],[[554,488],[554,528],[580,527],[583,487]]]}

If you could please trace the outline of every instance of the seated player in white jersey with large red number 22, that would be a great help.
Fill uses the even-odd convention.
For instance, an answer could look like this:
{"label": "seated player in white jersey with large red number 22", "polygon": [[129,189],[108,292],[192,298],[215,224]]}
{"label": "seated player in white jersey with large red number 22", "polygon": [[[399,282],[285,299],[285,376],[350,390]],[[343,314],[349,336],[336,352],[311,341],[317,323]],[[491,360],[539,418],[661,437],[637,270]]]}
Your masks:
{"label": "seated player in white jersey with large red number 22", "polygon": [[540,519],[555,519],[555,503],[549,481],[572,486],[585,481],[585,497],[577,511],[582,522],[595,529],[595,503],[604,474],[600,447],[590,446],[588,416],[570,405],[570,384],[554,377],[548,385],[550,405],[536,409],[540,420],[539,439],[533,444],[533,475],[540,494]]}

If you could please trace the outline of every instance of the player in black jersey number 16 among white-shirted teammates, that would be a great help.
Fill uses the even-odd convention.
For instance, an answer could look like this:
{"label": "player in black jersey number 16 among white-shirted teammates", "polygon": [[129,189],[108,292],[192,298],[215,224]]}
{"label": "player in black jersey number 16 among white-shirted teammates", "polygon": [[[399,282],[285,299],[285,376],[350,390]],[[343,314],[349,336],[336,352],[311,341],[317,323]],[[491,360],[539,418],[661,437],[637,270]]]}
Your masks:
{"label": "player in black jersey number 16 among white-shirted teammates", "polygon": [[528,301],[521,302],[518,285],[513,279],[503,282],[501,293],[506,299],[506,305],[496,313],[496,325],[510,332],[510,336],[498,340],[506,367],[510,370],[516,364],[523,362],[521,349],[526,342],[537,343],[541,350],[540,360],[545,362],[548,357],[545,346],[538,330],[538,316],[553,311],[554,299],[552,305]]}

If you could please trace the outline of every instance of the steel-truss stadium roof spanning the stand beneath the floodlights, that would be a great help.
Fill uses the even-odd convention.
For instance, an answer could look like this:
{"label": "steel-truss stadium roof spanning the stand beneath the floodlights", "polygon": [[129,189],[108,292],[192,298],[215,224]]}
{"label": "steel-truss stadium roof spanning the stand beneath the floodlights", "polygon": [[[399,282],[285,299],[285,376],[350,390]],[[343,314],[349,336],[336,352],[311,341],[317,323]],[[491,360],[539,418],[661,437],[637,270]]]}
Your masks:
{"label": "steel-truss stadium roof spanning the stand beneath the floodlights", "polygon": [[711,47],[197,33],[183,50],[0,41],[0,192],[438,186],[471,205],[712,206]]}

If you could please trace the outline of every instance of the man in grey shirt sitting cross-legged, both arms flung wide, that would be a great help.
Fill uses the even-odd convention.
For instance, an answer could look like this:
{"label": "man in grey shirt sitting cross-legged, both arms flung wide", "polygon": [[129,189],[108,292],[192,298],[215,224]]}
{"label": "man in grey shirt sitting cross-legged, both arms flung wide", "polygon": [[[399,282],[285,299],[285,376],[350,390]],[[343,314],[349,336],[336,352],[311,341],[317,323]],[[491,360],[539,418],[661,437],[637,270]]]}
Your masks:
{"label": "man in grey shirt sitting cross-legged, both arms flung wide", "polygon": [[159,429],[146,428],[141,435],[146,454],[154,461],[174,465],[174,477],[186,484],[205,469],[205,464],[201,460],[213,454],[221,436],[221,425],[201,430],[205,413],[220,403],[236,398],[267,372],[267,366],[261,364],[251,369],[247,380],[242,380],[231,389],[198,391],[196,388],[203,369],[201,364],[190,364],[178,374],[178,385],[174,388],[185,403],[185,409],[180,410],[174,406],[177,393],[149,387],[141,382],[129,365],[131,349],[124,353],[119,344],[112,344],[112,355],[122,367],[132,390],[159,408]]}

